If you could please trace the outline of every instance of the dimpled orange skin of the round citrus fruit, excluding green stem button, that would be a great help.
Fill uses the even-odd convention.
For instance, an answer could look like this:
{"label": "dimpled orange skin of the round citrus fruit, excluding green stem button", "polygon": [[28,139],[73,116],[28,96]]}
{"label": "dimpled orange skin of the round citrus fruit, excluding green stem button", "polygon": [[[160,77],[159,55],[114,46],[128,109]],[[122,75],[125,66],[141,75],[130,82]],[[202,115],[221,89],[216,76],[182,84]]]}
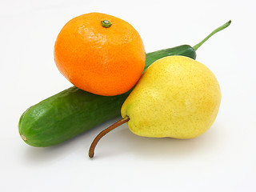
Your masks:
{"label": "dimpled orange skin of the round citrus fruit, excluding green stem button", "polygon": [[[103,27],[108,20],[112,25]],[[54,46],[58,70],[74,86],[93,94],[117,95],[130,90],[142,75],[146,53],[134,27],[108,14],[71,19]]]}

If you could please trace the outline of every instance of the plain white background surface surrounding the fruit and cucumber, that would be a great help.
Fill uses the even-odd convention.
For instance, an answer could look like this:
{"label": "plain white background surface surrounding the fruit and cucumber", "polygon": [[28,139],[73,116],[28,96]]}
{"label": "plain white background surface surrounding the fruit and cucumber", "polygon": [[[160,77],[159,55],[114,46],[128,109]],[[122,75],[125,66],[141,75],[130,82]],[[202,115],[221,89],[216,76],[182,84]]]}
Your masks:
{"label": "plain white background surface surrounding the fruit and cucumber", "polygon": [[[256,191],[255,1],[0,1],[2,191]],[[126,125],[96,134],[119,118],[48,148],[18,134],[22,112],[70,86],[54,64],[54,41],[71,18],[112,14],[141,34],[146,52],[194,46],[222,88],[214,125],[190,140],[142,138]]]}

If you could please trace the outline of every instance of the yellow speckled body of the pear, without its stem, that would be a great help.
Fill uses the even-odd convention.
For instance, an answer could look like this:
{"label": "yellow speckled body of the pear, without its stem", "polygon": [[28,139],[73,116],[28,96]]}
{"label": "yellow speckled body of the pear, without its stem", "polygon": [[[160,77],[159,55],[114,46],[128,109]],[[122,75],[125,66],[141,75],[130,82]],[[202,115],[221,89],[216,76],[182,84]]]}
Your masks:
{"label": "yellow speckled body of the pear, without its stem", "polygon": [[152,138],[195,138],[214,123],[221,90],[202,63],[183,56],[154,62],[122,106],[134,134]]}

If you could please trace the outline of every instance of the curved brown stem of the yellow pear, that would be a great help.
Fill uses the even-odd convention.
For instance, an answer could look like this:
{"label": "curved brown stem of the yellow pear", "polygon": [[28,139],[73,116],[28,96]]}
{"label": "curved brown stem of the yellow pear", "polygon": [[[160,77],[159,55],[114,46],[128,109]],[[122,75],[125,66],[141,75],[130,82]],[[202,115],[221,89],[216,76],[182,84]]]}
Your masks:
{"label": "curved brown stem of the yellow pear", "polygon": [[96,138],[94,138],[94,141],[91,143],[90,145],[90,150],[89,150],[89,157],[93,158],[94,157],[94,150],[95,147],[97,146],[97,143],[99,142],[99,140],[107,133],[109,133],[111,130],[114,130],[115,128],[117,128],[118,126],[121,126],[122,124],[124,124],[125,122],[128,122],[130,120],[130,118],[128,116],[122,118],[121,120],[119,120],[118,122],[115,122],[112,126],[109,126],[108,128],[106,128],[105,130],[102,130],[102,132],[100,132]]}

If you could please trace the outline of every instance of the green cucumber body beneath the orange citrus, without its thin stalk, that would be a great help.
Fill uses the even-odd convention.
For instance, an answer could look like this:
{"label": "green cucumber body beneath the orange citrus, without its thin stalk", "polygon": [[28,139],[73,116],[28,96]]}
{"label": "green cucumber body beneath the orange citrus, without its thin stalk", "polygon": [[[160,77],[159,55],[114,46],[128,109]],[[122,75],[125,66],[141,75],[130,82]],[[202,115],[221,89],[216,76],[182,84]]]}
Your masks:
{"label": "green cucumber body beneath the orange citrus, without its thin stalk", "polygon": [[[170,55],[196,57],[191,46],[183,45],[146,54],[145,69],[159,58]],[[18,122],[19,134],[30,146],[54,146],[102,122],[120,115],[122,103],[131,90],[116,96],[101,96],[75,86],[30,106]]]}

